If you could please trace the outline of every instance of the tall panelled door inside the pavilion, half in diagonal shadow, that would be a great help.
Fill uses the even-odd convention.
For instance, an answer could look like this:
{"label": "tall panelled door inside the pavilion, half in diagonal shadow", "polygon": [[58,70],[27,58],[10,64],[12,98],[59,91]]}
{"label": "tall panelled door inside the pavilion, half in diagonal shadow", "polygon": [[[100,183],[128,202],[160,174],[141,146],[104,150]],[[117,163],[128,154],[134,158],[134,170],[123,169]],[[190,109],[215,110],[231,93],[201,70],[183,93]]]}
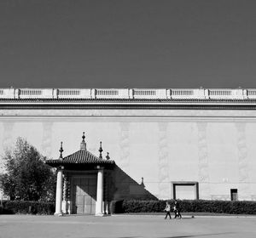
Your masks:
{"label": "tall panelled door inside the pavilion, half in diagonal shadow", "polygon": [[96,212],[96,176],[73,178],[73,213]]}

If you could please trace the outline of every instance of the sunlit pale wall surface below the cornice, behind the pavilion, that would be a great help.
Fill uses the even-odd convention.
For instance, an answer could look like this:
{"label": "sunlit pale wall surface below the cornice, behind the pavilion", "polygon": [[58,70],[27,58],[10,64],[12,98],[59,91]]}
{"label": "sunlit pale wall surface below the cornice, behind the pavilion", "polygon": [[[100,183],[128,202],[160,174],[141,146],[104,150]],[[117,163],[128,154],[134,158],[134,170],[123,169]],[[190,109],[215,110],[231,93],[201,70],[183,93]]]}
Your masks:
{"label": "sunlit pale wall surface below the cornice, behind the pavilion", "polygon": [[[199,198],[256,197],[256,111],[232,110],[2,110],[0,155],[23,137],[49,158],[79,150],[109,156],[160,199],[172,181],[198,182]],[[132,190],[132,188],[131,188]]]}

